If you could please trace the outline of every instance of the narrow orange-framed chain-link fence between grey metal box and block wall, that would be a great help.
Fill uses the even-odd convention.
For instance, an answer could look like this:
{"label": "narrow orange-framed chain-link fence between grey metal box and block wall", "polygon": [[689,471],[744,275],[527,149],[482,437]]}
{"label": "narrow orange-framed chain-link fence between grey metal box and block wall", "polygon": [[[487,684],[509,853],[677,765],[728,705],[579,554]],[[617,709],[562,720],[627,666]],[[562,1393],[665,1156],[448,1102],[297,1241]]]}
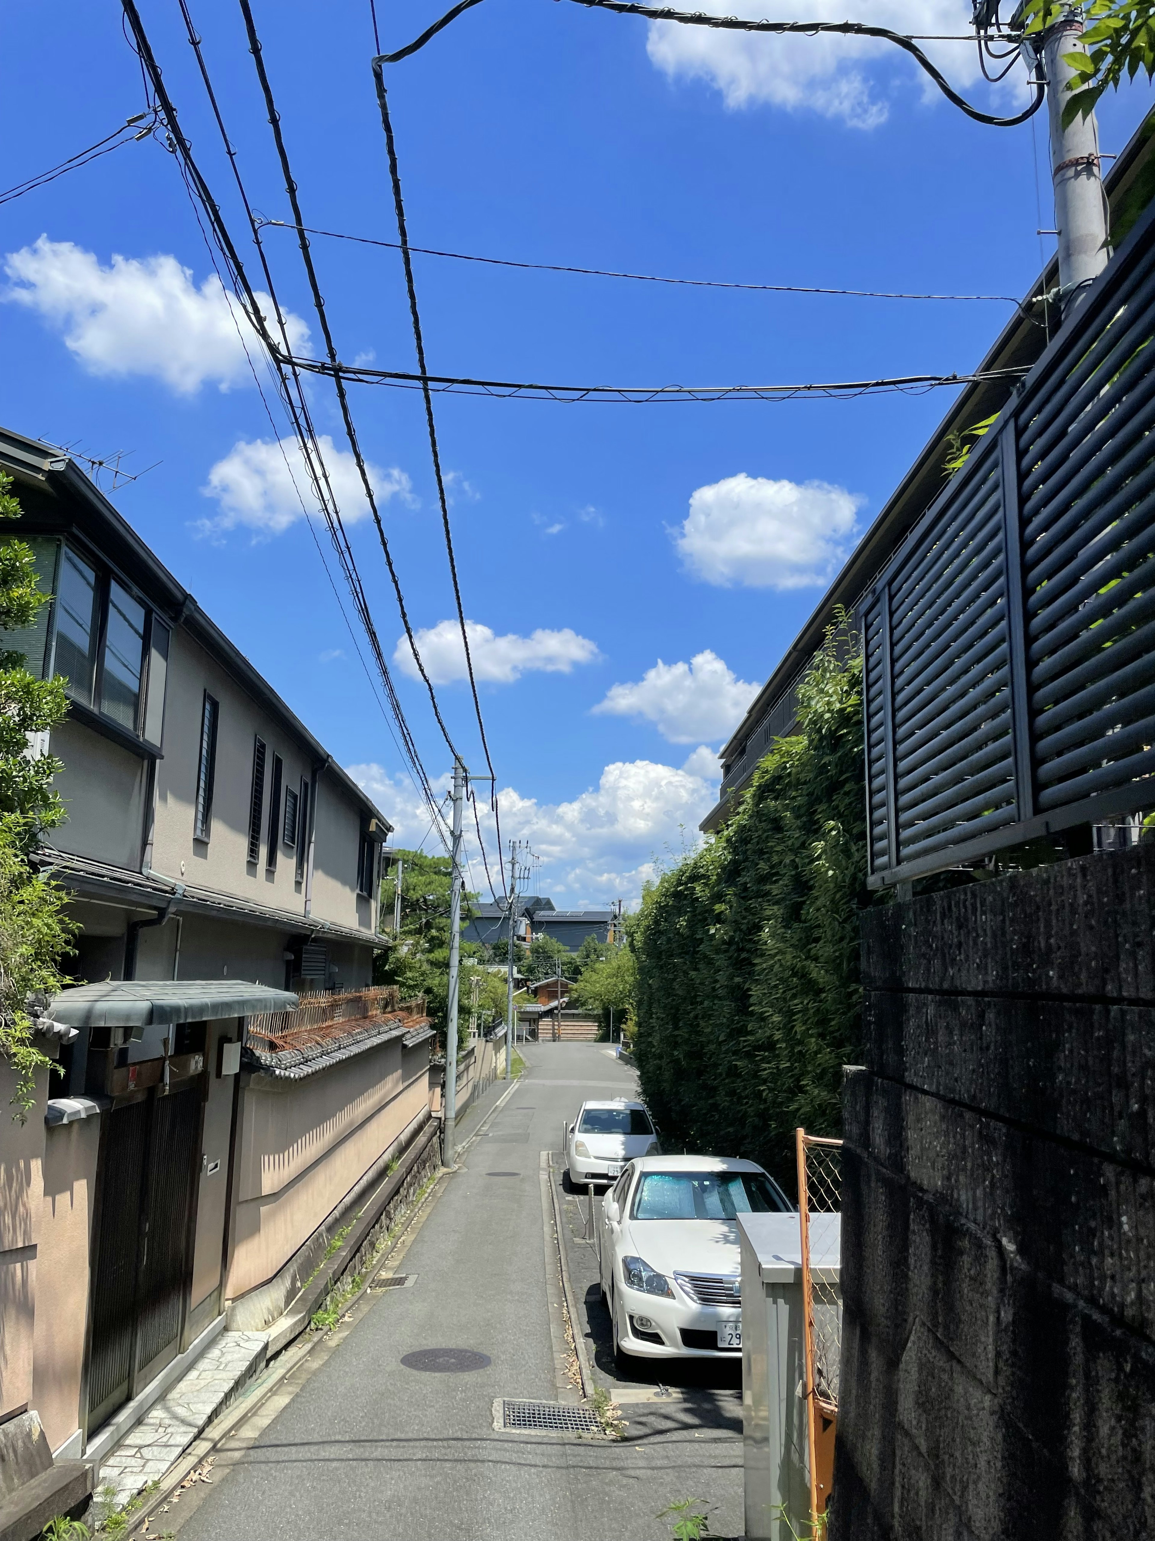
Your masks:
{"label": "narrow orange-framed chain-link fence between grey metal box and block wall", "polygon": [[838,1368],[842,1356],[842,1142],[795,1134],[802,1242],[810,1510],[825,1513],[833,1486]]}

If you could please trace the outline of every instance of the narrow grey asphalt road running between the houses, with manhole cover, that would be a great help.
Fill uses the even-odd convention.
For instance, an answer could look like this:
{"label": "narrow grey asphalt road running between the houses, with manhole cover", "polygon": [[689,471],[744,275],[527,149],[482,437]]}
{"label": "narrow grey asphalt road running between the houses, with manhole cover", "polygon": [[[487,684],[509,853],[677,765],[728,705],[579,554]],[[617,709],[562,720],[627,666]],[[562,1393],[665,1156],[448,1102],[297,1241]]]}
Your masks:
{"label": "narrow grey asphalt road running between the houses, with manhole cover", "polygon": [[[628,1429],[618,1444],[494,1429],[497,1398],[573,1399],[550,1324],[557,1268],[541,1153],[557,1151],[562,1120],[584,1097],[634,1091],[633,1073],[604,1045],[528,1045],[525,1059],[517,1089],[444,1179],[399,1264],[416,1282],[373,1296],[277,1416],[256,1439],[226,1444],[213,1486],[188,1493],[183,1513],[174,1506],[157,1516],[154,1532],[177,1529],[180,1541],[650,1541],[671,1533],[661,1509],[696,1498],[716,1535],[741,1533],[741,1404],[725,1376],[721,1402],[705,1388],[664,1398],[650,1378],[622,1387]],[[464,1137],[476,1126],[474,1114]],[[585,1270],[574,1270],[579,1296]],[[584,1299],[579,1327],[591,1330]],[[402,1362],[425,1348],[467,1348],[490,1362],[462,1373]],[[601,1367],[598,1379],[618,1385]]]}

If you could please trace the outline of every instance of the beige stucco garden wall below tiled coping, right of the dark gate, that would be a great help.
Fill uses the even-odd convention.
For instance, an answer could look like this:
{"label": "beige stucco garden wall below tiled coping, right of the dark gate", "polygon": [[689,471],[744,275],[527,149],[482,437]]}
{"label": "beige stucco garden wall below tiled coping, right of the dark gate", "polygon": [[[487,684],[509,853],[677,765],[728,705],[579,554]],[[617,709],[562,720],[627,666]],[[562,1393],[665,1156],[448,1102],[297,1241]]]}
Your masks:
{"label": "beige stucco garden wall below tiled coping, right of the dark gate", "polygon": [[271,1279],[428,1111],[428,1051],[400,1040],[299,1082],[242,1086],[228,1299]]}

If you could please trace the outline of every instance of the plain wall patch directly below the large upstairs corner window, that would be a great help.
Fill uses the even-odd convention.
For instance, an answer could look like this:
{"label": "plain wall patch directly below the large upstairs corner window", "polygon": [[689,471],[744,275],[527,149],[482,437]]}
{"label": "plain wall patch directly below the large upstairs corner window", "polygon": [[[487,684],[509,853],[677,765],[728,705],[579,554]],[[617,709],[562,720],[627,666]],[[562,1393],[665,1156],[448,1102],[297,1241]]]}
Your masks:
{"label": "plain wall patch directly below the large upstairs corner window", "polygon": [[54,786],[68,809],[49,843],[140,871],[148,761],[72,718],[52,729],[49,749],[65,763]]}

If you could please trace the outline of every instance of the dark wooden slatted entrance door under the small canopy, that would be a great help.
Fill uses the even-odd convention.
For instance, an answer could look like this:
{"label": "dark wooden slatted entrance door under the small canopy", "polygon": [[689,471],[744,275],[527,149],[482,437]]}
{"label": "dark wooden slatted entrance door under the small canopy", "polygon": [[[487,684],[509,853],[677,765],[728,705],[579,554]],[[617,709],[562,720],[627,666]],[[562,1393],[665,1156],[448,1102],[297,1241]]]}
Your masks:
{"label": "dark wooden slatted entrance door under the small canopy", "polygon": [[149,1094],[108,1119],[92,1267],[88,1432],[180,1348],[200,1091]]}

